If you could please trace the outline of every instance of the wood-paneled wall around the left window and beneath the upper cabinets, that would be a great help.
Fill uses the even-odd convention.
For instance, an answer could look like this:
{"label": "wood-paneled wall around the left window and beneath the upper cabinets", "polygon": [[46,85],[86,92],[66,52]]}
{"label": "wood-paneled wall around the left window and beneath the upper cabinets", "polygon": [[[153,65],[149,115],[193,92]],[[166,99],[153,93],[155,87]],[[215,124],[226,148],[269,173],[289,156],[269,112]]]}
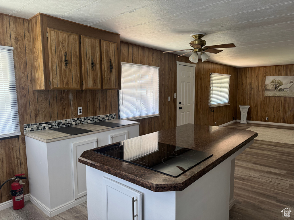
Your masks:
{"label": "wood-paneled wall around the left window and beneath the upper cabinets", "polygon": [[[0,141],[0,182],[27,173],[24,124],[118,112],[117,90],[33,90],[29,22],[0,14],[0,45],[14,47],[16,89],[21,133]],[[78,107],[83,114],[78,115]],[[28,181],[27,181],[28,182]],[[0,191],[0,203],[11,199],[10,184]],[[25,194],[29,184],[25,184]]]}

